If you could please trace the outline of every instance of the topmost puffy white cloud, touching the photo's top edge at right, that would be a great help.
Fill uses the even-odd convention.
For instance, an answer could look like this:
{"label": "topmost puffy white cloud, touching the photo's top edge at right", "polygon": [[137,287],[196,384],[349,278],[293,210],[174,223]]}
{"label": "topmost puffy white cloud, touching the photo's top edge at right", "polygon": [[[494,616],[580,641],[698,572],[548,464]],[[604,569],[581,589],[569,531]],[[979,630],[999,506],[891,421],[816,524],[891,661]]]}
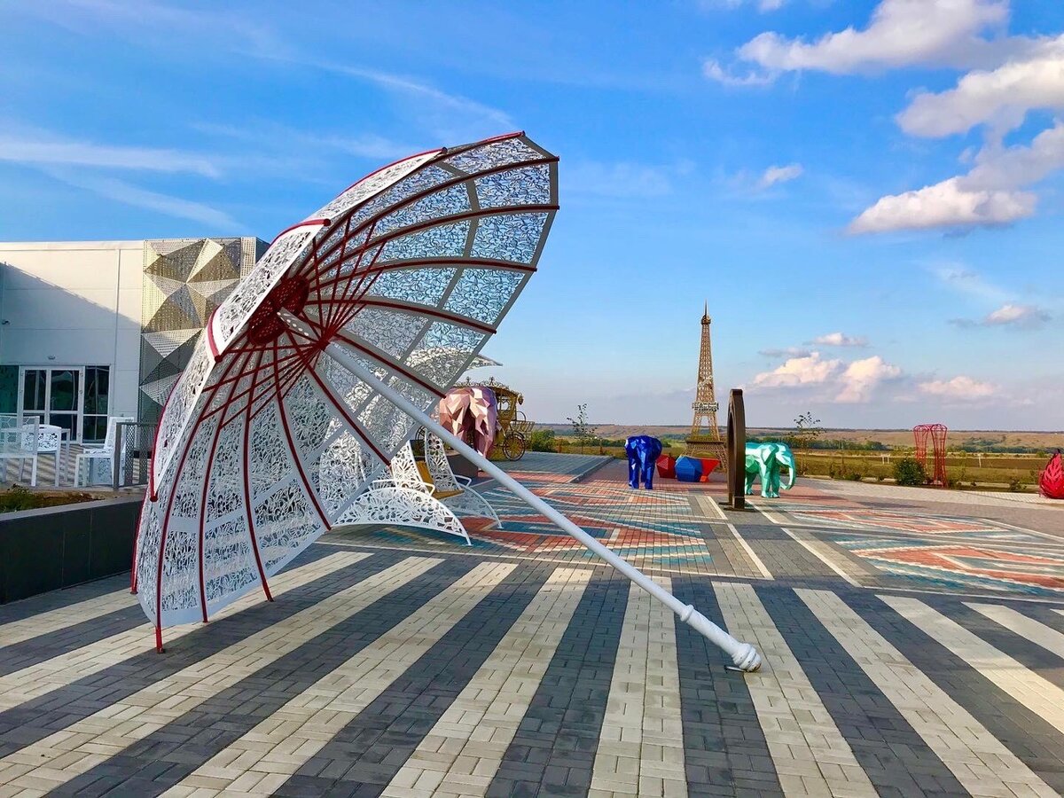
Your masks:
{"label": "topmost puffy white cloud, touching the photo's top edge at right", "polygon": [[741,47],[738,57],[769,73],[972,66],[1000,49],[980,34],[1000,28],[1008,15],[1008,0],[883,0],[864,30],[850,27],[812,43],[766,32]]}

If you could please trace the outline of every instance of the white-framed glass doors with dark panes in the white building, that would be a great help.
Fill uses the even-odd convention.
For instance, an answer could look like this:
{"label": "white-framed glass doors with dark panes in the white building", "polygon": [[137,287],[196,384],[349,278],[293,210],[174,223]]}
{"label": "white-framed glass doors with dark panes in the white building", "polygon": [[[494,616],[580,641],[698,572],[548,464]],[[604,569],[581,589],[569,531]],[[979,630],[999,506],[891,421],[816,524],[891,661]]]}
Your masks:
{"label": "white-framed glass doors with dark panes in the white building", "polygon": [[[105,367],[104,367],[105,368]],[[94,372],[94,413],[106,412],[106,377],[102,388],[104,399],[99,402],[99,372]],[[85,369],[81,366],[60,368],[26,367],[19,383],[18,411],[21,416],[36,416],[40,423],[49,423],[67,430],[67,439],[82,439],[82,417],[85,412]],[[105,416],[104,416],[105,418]],[[92,436],[97,428],[106,428],[106,421],[98,423],[94,416]],[[100,438],[102,439],[102,437]]]}

